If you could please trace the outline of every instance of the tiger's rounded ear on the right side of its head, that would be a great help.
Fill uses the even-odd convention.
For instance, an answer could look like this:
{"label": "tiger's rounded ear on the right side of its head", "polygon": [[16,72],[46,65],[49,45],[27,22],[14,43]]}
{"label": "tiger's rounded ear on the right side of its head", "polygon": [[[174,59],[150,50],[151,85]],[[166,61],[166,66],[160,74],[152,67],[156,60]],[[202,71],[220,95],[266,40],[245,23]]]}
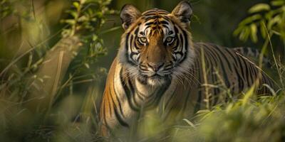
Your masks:
{"label": "tiger's rounded ear on the right side of its head", "polygon": [[192,6],[188,1],[181,1],[171,13],[179,18],[182,23],[190,24]]}

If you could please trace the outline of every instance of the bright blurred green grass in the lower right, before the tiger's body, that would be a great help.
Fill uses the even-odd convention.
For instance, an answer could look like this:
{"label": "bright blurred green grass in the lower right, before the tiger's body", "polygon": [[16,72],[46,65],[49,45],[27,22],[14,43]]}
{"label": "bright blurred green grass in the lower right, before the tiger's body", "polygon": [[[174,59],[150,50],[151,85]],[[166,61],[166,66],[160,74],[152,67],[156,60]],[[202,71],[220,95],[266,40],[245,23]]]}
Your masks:
{"label": "bright blurred green grass in the lower right, before the tiger's body", "polygon": [[195,127],[177,127],[177,141],[284,141],[284,93],[197,113]]}

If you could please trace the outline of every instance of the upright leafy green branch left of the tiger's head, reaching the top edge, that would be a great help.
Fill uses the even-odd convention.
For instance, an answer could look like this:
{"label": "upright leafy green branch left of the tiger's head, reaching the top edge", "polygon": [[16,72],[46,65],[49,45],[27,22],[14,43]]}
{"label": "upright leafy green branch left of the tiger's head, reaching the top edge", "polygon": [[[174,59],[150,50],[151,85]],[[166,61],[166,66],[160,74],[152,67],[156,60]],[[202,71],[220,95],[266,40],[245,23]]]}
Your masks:
{"label": "upright leafy green branch left of the tiger's head, reaching the top edge", "polygon": [[62,32],[63,37],[79,35],[86,47],[81,52],[81,62],[73,66],[75,74],[81,72],[82,68],[88,69],[89,64],[97,61],[101,55],[106,55],[107,50],[100,38],[100,28],[106,21],[105,16],[115,13],[108,9],[110,0],[76,0],[73,1],[71,9],[68,9],[68,17],[61,23],[68,25]]}

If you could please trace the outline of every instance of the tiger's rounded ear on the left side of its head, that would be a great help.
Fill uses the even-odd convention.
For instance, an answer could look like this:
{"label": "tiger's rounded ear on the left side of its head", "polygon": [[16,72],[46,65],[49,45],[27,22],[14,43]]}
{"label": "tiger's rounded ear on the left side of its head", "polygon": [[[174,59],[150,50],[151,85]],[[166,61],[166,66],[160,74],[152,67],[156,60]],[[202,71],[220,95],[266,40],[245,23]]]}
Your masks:
{"label": "tiger's rounded ear on the left side of its head", "polygon": [[123,28],[128,29],[130,24],[132,24],[136,19],[140,17],[140,11],[131,4],[125,4],[120,11],[120,20],[123,23]]}

